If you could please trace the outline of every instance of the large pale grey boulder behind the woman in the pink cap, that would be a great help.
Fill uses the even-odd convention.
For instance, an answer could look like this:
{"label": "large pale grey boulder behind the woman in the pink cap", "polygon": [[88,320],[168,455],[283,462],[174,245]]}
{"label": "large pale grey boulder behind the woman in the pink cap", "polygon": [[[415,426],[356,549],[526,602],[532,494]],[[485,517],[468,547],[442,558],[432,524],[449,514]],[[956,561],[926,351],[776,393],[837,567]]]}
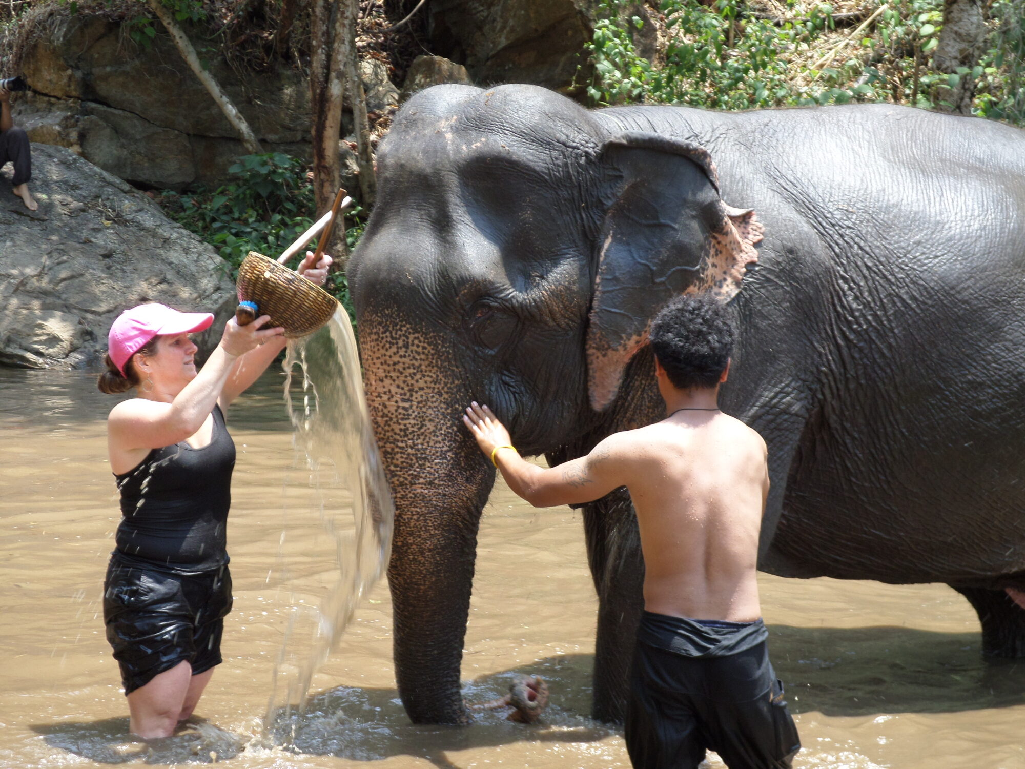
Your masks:
{"label": "large pale grey boulder behind the woman in the pink cap", "polygon": [[144,301],[216,313],[197,339],[212,349],[236,302],[213,249],[70,150],[34,144],[32,163],[36,212],[0,173],[0,364],[97,365],[111,323]]}

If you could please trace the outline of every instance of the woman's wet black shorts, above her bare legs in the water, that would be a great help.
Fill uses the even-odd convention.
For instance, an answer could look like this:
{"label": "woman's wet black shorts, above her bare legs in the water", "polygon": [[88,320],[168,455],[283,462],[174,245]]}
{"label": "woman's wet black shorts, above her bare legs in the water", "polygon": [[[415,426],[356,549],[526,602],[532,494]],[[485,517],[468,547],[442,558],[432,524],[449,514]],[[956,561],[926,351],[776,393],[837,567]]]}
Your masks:
{"label": "woman's wet black shorts, above her bare legs in the water", "polygon": [[115,554],[104,583],[104,622],[125,694],[182,660],[194,676],[220,664],[223,618],[231,610],[227,565],[176,574]]}

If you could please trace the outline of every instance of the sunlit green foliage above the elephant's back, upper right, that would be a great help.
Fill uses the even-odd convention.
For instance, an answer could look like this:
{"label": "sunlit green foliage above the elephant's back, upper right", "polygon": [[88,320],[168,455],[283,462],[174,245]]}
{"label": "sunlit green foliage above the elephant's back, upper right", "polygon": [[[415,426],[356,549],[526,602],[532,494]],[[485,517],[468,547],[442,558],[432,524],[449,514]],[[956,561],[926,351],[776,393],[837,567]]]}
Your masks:
{"label": "sunlit green foliage above the elephant's back, upper right", "polygon": [[[864,29],[837,30],[834,8],[803,9],[786,0],[781,19],[744,0],[662,0],[668,42],[658,65],[633,42],[644,22],[627,17],[629,0],[603,0],[604,16],[588,44],[598,105],[649,102],[721,110],[895,102],[941,106],[944,89],[962,77],[982,79],[977,112],[1023,121],[1025,0],[993,0],[992,15],[1006,21],[974,71],[929,69],[943,23],[943,0],[898,0]],[[876,5],[868,12],[874,12]],[[854,35],[858,32],[857,36]]]}

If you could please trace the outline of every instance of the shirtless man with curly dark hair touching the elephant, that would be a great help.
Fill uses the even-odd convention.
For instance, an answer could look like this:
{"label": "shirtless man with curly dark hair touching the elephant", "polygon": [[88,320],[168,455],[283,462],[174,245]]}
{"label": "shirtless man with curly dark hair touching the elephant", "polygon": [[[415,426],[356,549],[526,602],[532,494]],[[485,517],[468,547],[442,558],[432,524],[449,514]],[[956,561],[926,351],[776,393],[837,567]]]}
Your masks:
{"label": "shirtless man with curly dark hair touching the elephant", "polygon": [[755,567],[769,476],[765,441],[717,407],[733,329],[710,297],[680,296],[651,346],[662,421],[609,436],[544,470],[517,453],[487,406],[463,421],[517,494],[538,508],[630,493],[645,561],[645,611],[630,675],[634,767],[784,769],[801,750],[769,663]]}

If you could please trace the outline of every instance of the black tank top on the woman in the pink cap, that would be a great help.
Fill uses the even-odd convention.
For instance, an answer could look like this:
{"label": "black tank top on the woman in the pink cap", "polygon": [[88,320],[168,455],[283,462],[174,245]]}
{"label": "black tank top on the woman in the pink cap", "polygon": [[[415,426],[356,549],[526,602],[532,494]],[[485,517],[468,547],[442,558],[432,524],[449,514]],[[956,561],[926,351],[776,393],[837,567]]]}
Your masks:
{"label": "black tank top on the woman in the pink cap", "polygon": [[182,573],[227,564],[234,468],[235,442],[214,406],[208,445],[196,449],[181,441],[153,449],[137,467],[114,476],[123,516],[116,552]]}

